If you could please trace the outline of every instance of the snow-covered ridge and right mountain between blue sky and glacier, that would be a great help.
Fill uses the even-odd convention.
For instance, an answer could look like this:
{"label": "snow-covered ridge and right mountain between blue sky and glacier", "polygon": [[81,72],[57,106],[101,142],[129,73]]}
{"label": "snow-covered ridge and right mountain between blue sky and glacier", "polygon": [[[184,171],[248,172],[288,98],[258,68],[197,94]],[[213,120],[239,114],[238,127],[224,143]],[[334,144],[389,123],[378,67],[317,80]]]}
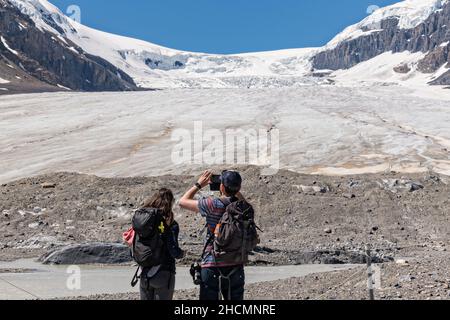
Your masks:
{"label": "snow-covered ridge and right mountain between blue sky and glacier", "polygon": [[[134,84],[141,88],[284,87],[364,79],[450,84],[447,0],[405,0],[378,9],[321,48],[236,55],[179,51],[98,31],[71,20],[46,0],[0,0],[0,4],[17,8],[29,17],[33,28],[51,35],[64,51],[106,68],[111,84],[103,89],[132,90]],[[26,34],[29,28],[20,32]],[[0,29],[0,50],[9,56],[12,52],[27,55],[14,37],[7,37],[7,31]],[[64,86],[86,90],[71,82]]]}

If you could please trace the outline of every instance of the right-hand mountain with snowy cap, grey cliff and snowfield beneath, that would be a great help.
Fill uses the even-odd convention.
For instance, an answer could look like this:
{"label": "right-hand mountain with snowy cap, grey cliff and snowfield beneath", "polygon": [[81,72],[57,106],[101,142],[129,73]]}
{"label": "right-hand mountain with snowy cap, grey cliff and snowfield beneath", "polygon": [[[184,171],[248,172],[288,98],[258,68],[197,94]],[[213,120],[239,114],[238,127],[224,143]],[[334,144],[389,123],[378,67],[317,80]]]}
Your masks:
{"label": "right-hand mountain with snowy cap, grey cliff and snowfield beneath", "polygon": [[350,69],[338,72],[341,76],[353,77],[364,69],[360,80],[448,85],[449,28],[448,0],[405,0],[346,28],[319,50],[312,64],[317,69]]}

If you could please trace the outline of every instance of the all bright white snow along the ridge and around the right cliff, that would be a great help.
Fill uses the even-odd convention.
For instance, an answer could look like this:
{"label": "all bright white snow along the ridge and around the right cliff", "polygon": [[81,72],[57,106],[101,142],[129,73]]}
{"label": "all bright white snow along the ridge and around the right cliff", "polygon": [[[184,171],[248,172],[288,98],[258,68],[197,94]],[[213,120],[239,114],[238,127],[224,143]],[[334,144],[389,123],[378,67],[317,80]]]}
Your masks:
{"label": "all bright white snow along the ridge and around the right cliff", "polygon": [[[28,14],[41,28],[55,34],[69,50],[76,49],[65,40],[71,40],[84,51],[100,56],[129,74],[141,87],[148,88],[278,88],[301,87],[327,83],[326,79],[312,77],[312,57],[321,50],[330,49],[342,41],[380,30],[379,22],[397,17],[401,28],[412,28],[438,10],[447,0],[404,0],[381,8],[362,22],[350,26],[322,48],[305,48],[234,55],[204,54],[165,48],[146,41],[114,35],[81,25],[66,17],[46,0],[10,0]],[[54,22],[63,33],[55,30]],[[406,56],[409,55],[406,53]],[[403,55],[395,56],[396,58]],[[415,60],[418,56],[412,55]],[[386,59],[386,63],[383,62]],[[402,81],[415,78],[427,81],[427,75],[398,75],[388,70],[392,61],[382,55],[360,68],[342,72],[348,79],[336,77],[345,83],[359,81]],[[407,63],[409,60],[407,60]],[[376,63],[382,64],[377,67]],[[373,73],[367,73],[373,72]],[[428,77],[429,78],[429,77]]]}

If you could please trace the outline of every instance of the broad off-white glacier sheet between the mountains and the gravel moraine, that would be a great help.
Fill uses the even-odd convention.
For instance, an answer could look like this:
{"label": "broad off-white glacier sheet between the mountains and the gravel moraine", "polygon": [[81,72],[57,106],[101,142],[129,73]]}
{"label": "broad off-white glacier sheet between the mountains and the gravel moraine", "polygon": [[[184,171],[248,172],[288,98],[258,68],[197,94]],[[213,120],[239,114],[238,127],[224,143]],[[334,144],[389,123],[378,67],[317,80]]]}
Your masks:
{"label": "broad off-white glacier sheet between the mountains and the gravel moraine", "polygon": [[3,96],[0,182],[54,171],[197,172],[207,165],[171,161],[171,134],[194,121],[221,132],[276,128],[281,168],[298,172],[450,175],[450,93],[421,92],[379,84]]}

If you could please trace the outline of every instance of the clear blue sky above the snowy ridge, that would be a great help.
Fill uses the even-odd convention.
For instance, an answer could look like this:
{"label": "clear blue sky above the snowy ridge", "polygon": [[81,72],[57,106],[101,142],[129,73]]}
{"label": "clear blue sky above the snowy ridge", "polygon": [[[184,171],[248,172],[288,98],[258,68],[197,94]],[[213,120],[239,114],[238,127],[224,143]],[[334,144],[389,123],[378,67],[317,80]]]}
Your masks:
{"label": "clear blue sky above the snowy ridge", "polygon": [[241,53],[321,46],[367,16],[371,5],[397,0],[50,0],[81,22],[163,46]]}

